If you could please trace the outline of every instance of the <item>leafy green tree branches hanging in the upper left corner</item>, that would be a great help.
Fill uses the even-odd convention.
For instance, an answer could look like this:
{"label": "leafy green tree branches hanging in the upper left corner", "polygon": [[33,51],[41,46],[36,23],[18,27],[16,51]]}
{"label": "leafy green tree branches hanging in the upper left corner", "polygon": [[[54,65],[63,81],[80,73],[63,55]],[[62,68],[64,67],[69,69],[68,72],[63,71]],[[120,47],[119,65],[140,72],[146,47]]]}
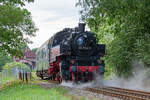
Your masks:
{"label": "leafy green tree branches hanging in the upper left corner", "polygon": [[20,48],[35,36],[37,28],[31,13],[23,8],[25,2],[33,0],[0,0],[0,52],[21,57]]}

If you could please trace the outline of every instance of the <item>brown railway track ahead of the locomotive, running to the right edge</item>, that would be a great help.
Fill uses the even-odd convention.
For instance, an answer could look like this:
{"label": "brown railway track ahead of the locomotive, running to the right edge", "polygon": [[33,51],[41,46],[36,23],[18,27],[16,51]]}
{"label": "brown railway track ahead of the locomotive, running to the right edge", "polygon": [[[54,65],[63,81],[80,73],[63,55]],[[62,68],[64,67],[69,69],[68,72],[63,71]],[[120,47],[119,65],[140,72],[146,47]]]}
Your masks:
{"label": "brown railway track ahead of the locomotive, running to the right edge", "polygon": [[150,92],[137,91],[131,89],[123,89],[116,87],[97,87],[97,88],[86,88],[85,90],[117,97],[123,100],[150,100]]}

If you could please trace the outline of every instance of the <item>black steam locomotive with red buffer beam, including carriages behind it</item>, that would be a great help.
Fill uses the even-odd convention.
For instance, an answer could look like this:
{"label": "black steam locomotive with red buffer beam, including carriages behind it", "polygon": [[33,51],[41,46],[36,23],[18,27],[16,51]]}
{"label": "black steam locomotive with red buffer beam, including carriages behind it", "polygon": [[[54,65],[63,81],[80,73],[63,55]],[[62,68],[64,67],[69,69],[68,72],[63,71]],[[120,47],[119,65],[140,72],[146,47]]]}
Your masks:
{"label": "black steam locomotive with red buffer beam, including carriages behind it", "polygon": [[65,28],[47,40],[36,52],[36,74],[42,79],[62,82],[88,82],[94,75],[103,76],[105,45],[96,35],[85,31],[85,23]]}

